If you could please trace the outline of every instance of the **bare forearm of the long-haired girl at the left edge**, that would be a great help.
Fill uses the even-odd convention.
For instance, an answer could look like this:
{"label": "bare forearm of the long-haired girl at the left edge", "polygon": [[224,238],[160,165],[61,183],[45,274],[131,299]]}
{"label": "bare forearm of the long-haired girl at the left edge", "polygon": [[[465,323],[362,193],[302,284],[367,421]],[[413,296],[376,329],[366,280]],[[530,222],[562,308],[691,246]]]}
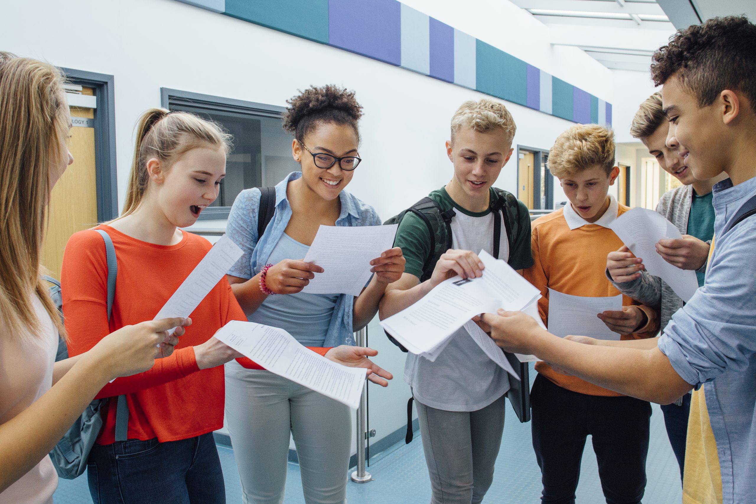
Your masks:
{"label": "bare forearm of the long-haired girl at the left edge", "polygon": [[63,438],[112,378],[107,373],[110,367],[82,356],[42,397],[0,425],[0,493],[29,472]]}

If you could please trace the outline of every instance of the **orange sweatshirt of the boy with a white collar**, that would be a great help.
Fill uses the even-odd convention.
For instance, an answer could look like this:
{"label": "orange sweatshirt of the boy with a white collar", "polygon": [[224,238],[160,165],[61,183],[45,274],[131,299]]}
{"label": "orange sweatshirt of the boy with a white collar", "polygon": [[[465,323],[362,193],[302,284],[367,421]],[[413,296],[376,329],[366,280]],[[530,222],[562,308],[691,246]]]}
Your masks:
{"label": "orange sweatshirt of the boy with a white collar", "polygon": [[[627,210],[627,206],[620,205],[617,215]],[[622,246],[614,231],[598,224],[586,224],[570,230],[562,209],[536,219],[532,227],[531,246],[535,264],[525,270],[524,276],[541,290],[538,311],[544,323],[547,324],[549,319],[548,288],[586,297],[620,294],[605,274],[606,255]],[[641,305],[626,295],[622,296],[622,305],[637,305],[648,317],[648,323],[633,334],[621,335],[621,339],[645,339],[656,335],[659,323],[654,308]],[[556,373],[545,362],[536,363],[535,369],[556,385],[571,391],[590,395],[621,395],[575,376]]]}

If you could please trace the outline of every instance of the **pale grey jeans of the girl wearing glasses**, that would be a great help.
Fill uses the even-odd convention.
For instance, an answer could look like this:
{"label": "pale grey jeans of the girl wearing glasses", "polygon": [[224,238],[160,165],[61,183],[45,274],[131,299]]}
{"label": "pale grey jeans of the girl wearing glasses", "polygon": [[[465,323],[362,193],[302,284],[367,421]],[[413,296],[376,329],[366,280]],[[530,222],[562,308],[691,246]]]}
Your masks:
{"label": "pale grey jeans of the girl wearing glasses", "polygon": [[226,422],[246,504],[283,504],[293,435],[307,504],[345,504],[349,407],[261,369],[225,365]]}

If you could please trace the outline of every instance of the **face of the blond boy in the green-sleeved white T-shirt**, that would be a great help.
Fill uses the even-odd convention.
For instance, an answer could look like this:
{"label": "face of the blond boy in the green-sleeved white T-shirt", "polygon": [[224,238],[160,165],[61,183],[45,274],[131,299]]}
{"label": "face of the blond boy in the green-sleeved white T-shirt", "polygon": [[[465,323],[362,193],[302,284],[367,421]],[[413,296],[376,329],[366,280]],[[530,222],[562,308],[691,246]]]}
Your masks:
{"label": "face of the blond boy in the green-sleeved white T-shirt", "polygon": [[446,153],[454,163],[454,178],[447,190],[457,203],[464,203],[458,200],[463,195],[488,202],[488,189],[512,156],[511,146],[512,138],[501,128],[486,132],[460,128],[456,132],[454,143],[446,143]]}

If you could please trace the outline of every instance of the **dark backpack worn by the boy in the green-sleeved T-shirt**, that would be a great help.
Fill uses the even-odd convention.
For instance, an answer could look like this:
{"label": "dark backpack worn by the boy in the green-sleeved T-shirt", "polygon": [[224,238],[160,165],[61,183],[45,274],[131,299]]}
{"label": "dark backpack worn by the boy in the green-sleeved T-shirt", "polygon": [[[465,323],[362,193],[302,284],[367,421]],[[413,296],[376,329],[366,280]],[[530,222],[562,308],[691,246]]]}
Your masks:
{"label": "dark backpack worn by the boy in the green-sleeved T-shirt", "polygon": [[[501,242],[501,221],[504,221],[504,229],[507,231],[507,240],[510,244],[510,251],[514,249],[514,243],[520,233],[530,233],[530,227],[522,229],[520,226],[520,206],[518,199],[507,190],[494,187],[497,198],[491,201],[491,211],[494,214],[502,214],[502,218],[494,218],[494,258],[499,258],[499,246]],[[383,224],[401,224],[404,216],[412,212],[420,217],[428,227],[430,235],[432,253],[423,262],[423,276],[420,282],[428,280],[435,268],[435,263],[441,258],[448,249],[452,247],[451,240],[451,219],[454,215],[454,209],[448,209],[445,212],[438,207],[429,196],[420,199],[410,208],[399,212],[392,218],[389,218]],[[385,332],[385,331],[384,331]],[[407,348],[401,345],[388,332],[386,335],[389,340],[398,348],[407,352]],[[505,394],[510,399],[510,404],[515,411],[520,422],[530,421],[530,376],[528,363],[521,363],[515,354],[504,352],[507,360],[510,361],[513,369],[517,371],[520,380],[510,380],[510,390]],[[404,437],[405,443],[409,444],[414,436],[412,432],[412,401],[413,397],[407,401],[407,434]]]}

